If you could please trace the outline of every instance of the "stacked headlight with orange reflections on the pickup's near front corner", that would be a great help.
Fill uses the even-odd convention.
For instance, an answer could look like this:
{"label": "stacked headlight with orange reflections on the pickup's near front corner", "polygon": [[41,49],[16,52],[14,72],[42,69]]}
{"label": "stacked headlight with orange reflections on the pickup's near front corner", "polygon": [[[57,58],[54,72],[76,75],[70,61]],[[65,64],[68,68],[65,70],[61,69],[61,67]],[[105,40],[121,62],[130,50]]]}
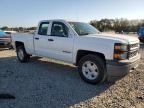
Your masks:
{"label": "stacked headlight with orange reflections on the pickup's near front corner", "polygon": [[128,58],[128,45],[116,43],[114,45],[114,59],[123,60]]}

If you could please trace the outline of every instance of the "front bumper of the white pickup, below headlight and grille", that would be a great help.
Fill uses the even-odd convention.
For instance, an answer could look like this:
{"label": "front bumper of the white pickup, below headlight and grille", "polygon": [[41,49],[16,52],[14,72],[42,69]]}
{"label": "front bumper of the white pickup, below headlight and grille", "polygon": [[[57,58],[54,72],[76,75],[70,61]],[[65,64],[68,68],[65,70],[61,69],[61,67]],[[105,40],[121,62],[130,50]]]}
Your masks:
{"label": "front bumper of the white pickup, below headlight and grille", "polygon": [[131,60],[121,60],[121,61],[107,60],[108,80],[113,81],[125,76],[131,70],[134,70],[135,68],[138,67],[139,61],[140,61],[140,55]]}

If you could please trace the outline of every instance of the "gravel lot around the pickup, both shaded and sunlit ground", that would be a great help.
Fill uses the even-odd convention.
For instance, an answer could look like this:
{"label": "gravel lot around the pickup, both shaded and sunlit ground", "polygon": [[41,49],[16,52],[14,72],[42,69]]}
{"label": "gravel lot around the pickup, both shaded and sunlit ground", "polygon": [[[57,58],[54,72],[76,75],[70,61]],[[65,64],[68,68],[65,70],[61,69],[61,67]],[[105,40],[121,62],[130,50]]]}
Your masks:
{"label": "gravel lot around the pickup, both shaded and sunlit ground", "polygon": [[144,108],[144,45],[140,66],[117,81],[90,85],[83,82],[74,66],[33,57],[17,61],[15,51],[0,51],[0,108]]}

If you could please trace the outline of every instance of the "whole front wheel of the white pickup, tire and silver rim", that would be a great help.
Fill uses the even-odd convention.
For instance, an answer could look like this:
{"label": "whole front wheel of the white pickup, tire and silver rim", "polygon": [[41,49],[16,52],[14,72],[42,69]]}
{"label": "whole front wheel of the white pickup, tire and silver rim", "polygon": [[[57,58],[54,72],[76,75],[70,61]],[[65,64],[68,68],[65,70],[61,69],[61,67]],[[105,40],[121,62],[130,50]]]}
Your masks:
{"label": "whole front wheel of the white pickup, tire and silver rim", "polygon": [[106,79],[104,60],[96,55],[84,56],[78,64],[78,71],[81,78],[90,84],[98,84]]}

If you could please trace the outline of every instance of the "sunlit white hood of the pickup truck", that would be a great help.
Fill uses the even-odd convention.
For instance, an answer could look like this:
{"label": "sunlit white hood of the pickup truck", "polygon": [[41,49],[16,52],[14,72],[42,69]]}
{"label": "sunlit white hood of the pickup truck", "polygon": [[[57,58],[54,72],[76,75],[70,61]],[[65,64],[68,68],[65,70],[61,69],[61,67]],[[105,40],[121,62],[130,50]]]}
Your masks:
{"label": "sunlit white hood of the pickup truck", "polygon": [[88,35],[90,37],[98,37],[98,38],[104,38],[104,39],[110,39],[110,40],[116,40],[123,43],[135,43],[139,42],[139,39],[137,36],[129,36],[129,35],[120,35],[120,34],[95,34],[95,35]]}

